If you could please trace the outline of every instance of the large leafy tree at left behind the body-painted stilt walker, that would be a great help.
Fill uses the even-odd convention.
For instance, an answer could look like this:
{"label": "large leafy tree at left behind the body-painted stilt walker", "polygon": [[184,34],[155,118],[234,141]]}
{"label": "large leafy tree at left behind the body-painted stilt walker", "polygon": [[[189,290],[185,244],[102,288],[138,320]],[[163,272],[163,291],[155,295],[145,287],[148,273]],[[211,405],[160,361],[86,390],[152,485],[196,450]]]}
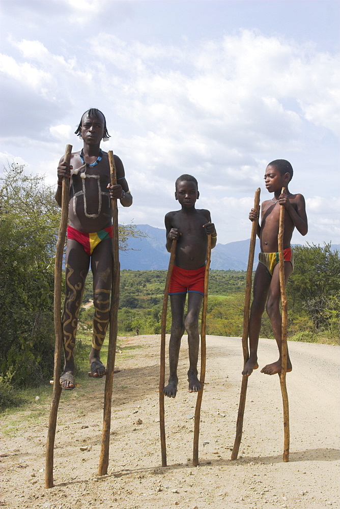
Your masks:
{"label": "large leafy tree at left behind the body-painted stilt walker", "polygon": [[[22,164],[5,167],[0,180],[0,375],[10,372],[16,384],[34,385],[53,369],[60,208],[44,176],[26,175]],[[119,230],[122,250],[129,237],[143,235],[134,224]]]}

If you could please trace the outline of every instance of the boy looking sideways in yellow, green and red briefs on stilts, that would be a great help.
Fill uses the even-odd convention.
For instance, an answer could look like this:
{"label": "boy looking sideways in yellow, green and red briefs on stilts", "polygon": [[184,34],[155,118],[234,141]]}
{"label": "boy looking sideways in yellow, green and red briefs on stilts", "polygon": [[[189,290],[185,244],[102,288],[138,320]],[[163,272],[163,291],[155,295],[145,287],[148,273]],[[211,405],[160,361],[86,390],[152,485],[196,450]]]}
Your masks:
{"label": "boy looking sideways in yellow, green and red briefs on stilts", "polygon": [[[277,159],[268,164],[265,173],[266,189],[274,193],[271,200],[262,203],[261,226],[258,223],[261,252],[256,269],[253,286],[253,301],[249,318],[249,359],[244,366],[242,375],[249,376],[258,365],[258,344],[261,329],[261,319],[266,308],[278,346],[279,358],[276,362],[267,364],[261,373],[275,375],[281,372],[281,315],[280,315],[280,281],[278,264],[278,228],[280,207],[285,207],[284,260],[285,280],[294,268],[291,238],[296,228],[301,235],[308,231],[305,202],[302,194],[294,194],[288,190],[288,183],[293,177],[293,168],[285,159]],[[282,187],[286,193],[281,194]],[[255,209],[249,214],[251,221],[259,221]],[[287,371],[292,371],[292,363],[287,357]]]}

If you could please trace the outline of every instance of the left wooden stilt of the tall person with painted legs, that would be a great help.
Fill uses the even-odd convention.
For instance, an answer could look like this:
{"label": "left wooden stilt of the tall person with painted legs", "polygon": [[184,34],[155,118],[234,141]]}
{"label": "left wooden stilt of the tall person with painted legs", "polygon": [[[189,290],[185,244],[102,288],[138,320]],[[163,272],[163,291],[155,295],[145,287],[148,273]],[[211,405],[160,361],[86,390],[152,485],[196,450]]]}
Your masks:
{"label": "left wooden stilt of the tall person with painted legs", "polygon": [[[66,145],[64,162],[70,164],[72,145]],[[63,177],[62,188],[62,214],[58,231],[58,240],[56,242],[55,261],[54,261],[54,331],[55,331],[55,347],[54,347],[54,370],[53,370],[53,394],[51,408],[49,413],[46,456],[45,456],[45,488],[53,487],[53,450],[56,428],[56,417],[58,414],[58,406],[62,387],[59,383],[60,365],[62,359],[63,347],[63,327],[61,319],[61,300],[62,300],[62,268],[63,253],[67,229],[67,220],[69,213],[69,188],[70,179]]]}

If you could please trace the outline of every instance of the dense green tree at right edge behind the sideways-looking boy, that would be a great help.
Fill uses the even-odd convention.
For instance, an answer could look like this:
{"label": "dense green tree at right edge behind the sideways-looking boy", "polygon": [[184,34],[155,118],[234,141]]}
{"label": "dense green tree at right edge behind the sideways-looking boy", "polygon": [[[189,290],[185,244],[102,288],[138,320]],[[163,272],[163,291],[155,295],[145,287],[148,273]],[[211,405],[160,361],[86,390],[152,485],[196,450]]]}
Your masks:
{"label": "dense green tree at right edge behind the sideways-looking boy", "polygon": [[335,332],[340,317],[340,258],[331,244],[294,247],[287,296],[293,316],[310,317],[316,330]]}

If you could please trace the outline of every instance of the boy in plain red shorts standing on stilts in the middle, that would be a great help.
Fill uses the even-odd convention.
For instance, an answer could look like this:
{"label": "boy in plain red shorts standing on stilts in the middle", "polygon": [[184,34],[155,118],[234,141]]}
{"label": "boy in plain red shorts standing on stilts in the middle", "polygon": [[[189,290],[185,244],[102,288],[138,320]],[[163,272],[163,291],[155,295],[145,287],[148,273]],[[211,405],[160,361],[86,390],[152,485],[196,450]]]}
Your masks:
{"label": "boy in plain red shorts standing on stilts in the middle", "polygon": [[[177,365],[184,331],[189,345],[189,392],[197,392],[201,384],[197,378],[200,334],[199,314],[204,295],[204,275],[207,261],[207,235],[211,234],[211,247],[216,245],[216,230],[210,212],[196,209],[199,199],[197,180],[191,175],[181,175],[176,180],[175,198],[181,210],[168,212],[165,216],[166,249],[171,251],[173,240],[177,240],[176,258],[170,282],[172,325],[169,342],[170,376],[163,392],[175,398],[177,392]],[[188,312],[184,318],[184,305],[188,293]]]}

